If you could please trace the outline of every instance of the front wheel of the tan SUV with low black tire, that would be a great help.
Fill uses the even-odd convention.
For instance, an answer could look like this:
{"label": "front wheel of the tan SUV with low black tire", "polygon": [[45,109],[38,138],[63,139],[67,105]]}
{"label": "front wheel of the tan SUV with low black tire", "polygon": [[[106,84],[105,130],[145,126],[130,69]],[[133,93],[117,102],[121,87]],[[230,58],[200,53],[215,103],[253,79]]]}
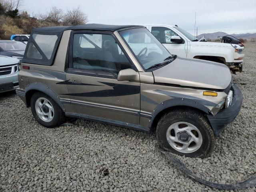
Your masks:
{"label": "front wheel of the tan SUV with low black tire", "polygon": [[214,132],[195,110],[174,110],[162,116],[156,127],[161,148],[187,157],[208,156],[215,147]]}

